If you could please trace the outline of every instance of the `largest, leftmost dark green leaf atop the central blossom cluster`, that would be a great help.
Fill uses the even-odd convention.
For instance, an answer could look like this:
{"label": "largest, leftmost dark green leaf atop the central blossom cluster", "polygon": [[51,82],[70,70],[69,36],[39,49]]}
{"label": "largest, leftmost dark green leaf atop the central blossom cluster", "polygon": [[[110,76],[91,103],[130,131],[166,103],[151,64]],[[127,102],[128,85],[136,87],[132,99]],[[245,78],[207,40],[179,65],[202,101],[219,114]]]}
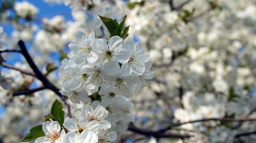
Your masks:
{"label": "largest, leftmost dark green leaf atop the central blossom cluster", "polygon": [[109,30],[110,35],[113,36],[112,33],[116,29],[118,29],[118,21],[113,20],[112,18],[102,17],[101,15],[99,15],[99,17],[101,18],[101,21],[103,21],[103,23],[107,27],[107,30]]}

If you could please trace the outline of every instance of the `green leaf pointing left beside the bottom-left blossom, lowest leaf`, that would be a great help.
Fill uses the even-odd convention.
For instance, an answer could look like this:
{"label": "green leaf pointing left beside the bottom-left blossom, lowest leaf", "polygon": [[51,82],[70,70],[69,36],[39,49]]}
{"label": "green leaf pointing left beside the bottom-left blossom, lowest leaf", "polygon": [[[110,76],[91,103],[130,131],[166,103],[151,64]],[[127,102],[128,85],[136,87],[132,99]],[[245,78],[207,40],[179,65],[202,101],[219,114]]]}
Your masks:
{"label": "green leaf pointing left beside the bottom-left blossom, lowest leaf", "polygon": [[29,130],[29,133],[26,134],[25,138],[22,139],[22,142],[32,141],[41,136],[45,136],[44,131],[42,129],[42,125],[35,126],[34,128]]}

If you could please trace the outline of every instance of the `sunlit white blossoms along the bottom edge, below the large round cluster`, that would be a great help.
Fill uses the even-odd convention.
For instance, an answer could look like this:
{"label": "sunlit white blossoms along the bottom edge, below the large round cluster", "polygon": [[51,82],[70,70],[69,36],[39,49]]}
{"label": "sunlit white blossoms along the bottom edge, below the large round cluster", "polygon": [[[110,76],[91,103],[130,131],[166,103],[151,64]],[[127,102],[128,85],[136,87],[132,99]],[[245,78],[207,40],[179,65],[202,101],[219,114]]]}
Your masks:
{"label": "sunlit white blossoms along the bottom edge, below the large round cluster", "polygon": [[43,131],[46,135],[35,142],[96,143],[116,140],[116,132],[107,132],[111,125],[104,120],[108,115],[106,108],[98,105],[94,110],[91,105],[85,105],[80,113],[82,116],[77,120],[65,119],[63,124],[65,129],[56,121],[44,122]]}

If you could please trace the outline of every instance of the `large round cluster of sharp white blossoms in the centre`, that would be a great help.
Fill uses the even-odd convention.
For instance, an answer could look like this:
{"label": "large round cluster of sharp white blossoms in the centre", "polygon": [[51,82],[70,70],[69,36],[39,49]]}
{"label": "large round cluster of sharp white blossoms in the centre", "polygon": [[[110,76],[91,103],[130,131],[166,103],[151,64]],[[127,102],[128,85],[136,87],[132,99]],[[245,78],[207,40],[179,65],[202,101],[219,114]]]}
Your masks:
{"label": "large round cluster of sharp white blossoms in the centre", "polygon": [[[106,107],[111,129],[122,135],[133,120],[129,98],[155,75],[150,71],[149,55],[132,40],[124,41],[119,36],[98,39],[94,31],[87,37],[79,30],[76,42],[68,46],[69,59],[63,60],[59,68],[61,94],[76,104],[82,101]],[[100,98],[96,99],[97,96]]]}

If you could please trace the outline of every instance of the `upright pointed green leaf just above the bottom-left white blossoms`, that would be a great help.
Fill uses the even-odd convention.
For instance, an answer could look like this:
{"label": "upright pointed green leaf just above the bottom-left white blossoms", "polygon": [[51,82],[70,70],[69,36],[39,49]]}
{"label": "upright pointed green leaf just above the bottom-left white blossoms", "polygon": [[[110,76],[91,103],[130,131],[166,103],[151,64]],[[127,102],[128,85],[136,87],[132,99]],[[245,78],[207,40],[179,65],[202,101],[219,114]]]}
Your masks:
{"label": "upright pointed green leaf just above the bottom-left white blossoms", "polygon": [[59,122],[59,124],[62,126],[64,123],[64,111],[62,110],[62,104],[58,100],[55,100],[55,102],[52,105],[51,114],[55,119]]}

